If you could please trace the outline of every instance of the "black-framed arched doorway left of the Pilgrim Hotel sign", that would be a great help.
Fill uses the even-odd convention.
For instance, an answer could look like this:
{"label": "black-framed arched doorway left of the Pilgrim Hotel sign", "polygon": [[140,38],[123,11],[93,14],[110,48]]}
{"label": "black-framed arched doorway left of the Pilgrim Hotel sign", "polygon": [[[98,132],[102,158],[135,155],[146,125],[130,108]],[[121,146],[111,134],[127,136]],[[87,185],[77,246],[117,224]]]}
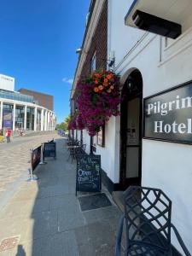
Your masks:
{"label": "black-framed arched doorway left of the Pilgrim Hotel sign", "polygon": [[141,185],[143,79],[134,70],[122,90],[120,111],[120,189]]}

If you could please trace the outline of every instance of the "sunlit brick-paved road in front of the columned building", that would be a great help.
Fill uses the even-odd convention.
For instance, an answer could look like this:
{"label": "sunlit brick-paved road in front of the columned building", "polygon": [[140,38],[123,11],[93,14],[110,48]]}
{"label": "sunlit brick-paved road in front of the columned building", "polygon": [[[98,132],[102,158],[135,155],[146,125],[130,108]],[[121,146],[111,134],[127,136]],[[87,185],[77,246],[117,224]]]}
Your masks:
{"label": "sunlit brick-paved road in front of the columned building", "polygon": [[0,144],[0,199],[11,185],[30,167],[30,148],[59,137],[55,131],[43,134],[15,137],[11,143]]}

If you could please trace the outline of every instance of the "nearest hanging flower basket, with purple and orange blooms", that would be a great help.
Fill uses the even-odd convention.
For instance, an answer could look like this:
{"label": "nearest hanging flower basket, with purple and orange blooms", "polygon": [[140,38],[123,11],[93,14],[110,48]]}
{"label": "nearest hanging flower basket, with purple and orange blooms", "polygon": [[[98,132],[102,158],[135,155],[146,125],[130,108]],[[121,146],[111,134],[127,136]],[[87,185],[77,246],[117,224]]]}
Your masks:
{"label": "nearest hanging flower basket, with purple and orange blooms", "polygon": [[77,92],[79,114],[90,136],[95,136],[112,115],[119,115],[119,76],[112,71],[92,72],[79,81]]}

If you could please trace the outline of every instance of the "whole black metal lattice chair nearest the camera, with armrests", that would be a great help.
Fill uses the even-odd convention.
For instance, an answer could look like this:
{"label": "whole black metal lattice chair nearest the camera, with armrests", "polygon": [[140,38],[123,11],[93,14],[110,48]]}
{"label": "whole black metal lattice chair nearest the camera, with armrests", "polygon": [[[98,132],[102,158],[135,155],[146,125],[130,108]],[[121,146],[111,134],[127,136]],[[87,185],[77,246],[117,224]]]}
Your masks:
{"label": "whole black metal lattice chair nearest the camera, with armrests", "polygon": [[172,255],[171,230],[183,252],[191,256],[176,227],[171,223],[172,201],[160,189],[131,186],[124,192],[125,213],[120,218],[115,256],[122,255],[125,224],[125,255]]}

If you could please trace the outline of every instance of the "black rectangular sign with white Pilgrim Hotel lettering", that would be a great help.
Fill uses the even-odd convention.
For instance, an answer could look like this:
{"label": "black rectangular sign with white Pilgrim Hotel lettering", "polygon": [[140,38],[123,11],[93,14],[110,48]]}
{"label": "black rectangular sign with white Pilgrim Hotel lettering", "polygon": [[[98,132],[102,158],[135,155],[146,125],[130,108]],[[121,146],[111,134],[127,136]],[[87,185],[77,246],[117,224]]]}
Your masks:
{"label": "black rectangular sign with white Pilgrim Hotel lettering", "polygon": [[192,144],[192,82],[144,99],[143,137]]}

